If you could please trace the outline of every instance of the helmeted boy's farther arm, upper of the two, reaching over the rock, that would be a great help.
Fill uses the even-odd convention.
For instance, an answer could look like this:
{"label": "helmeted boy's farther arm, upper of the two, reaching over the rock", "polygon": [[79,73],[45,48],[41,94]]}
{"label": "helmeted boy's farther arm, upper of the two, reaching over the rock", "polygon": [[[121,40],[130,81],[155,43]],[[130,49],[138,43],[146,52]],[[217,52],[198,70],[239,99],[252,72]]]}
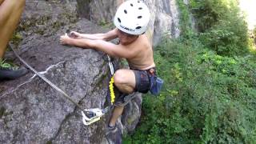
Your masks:
{"label": "helmeted boy's farther arm, upper of the two, reaching over the rock", "polygon": [[104,40],[104,41],[110,41],[118,37],[117,29],[110,30],[105,34],[79,34],[77,32],[71,32],[71,34],[75,34],[79,38],[86,38],[91,40]]}

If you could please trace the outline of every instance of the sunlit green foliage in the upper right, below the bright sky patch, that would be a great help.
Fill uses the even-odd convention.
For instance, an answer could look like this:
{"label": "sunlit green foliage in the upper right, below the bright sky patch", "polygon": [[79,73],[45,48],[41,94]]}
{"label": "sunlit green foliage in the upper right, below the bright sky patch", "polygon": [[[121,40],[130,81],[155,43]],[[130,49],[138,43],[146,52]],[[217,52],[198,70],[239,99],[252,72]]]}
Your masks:
{"label": "sunlit green foliage in the upper right, below the bright sky patch", "polygon": [[206,46],[227,56],[248,52],[248,30],[237,1],[193,0],[190,6]]}

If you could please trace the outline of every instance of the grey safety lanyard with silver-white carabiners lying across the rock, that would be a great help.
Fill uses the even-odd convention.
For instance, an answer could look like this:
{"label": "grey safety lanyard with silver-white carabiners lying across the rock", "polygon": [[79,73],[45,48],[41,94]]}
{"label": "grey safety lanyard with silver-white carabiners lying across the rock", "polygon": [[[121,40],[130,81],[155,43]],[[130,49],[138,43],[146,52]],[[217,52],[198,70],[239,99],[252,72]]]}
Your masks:
{"label": "grey safety lanyard with silver-white carabiners lying across the rock", "polygon": [[[74,103],[75,106],[78,106],[78,108],[80,110],[82,110],[82,122],[86,126],[90,125],[91,123],[97,122],[102,117],[102,115],[106,114],[109,111],[110,106],[107,106],[105,109],[102,109],[102,110],[99,109],[99,108],[96,108],[96,109],[83,109],[82,106],[79,106],[77,102],[74,102],[74,100],[68,94],[66,94],[63,90],[58,88],[58,86],[54,85],[54,83],[50,82],[49,79],[44,77],[37,70],[34,70],[34,68],[32,66],[30,66],[27,62],[25,62],[17,54],[17,52],[14,50],[14,48],[13,48],[13,46],[11,44],[10,44],[10,49],[14,51],[14,54],[16,55],[16,57],[24,65],[26,65],[30,70],[32,70],[34,72],[34,74],[38,75],[39,78],[42,78],[42,80],[44,80],[46,83],[48,83],[51,87],[53,87],[55,90],[58,90],[58,92],[61,93],[64,96],[64,98],[68,99],[70,102]],[[109,55],[107,55],[107,57],[108,57],[108,60],[109,60],[109,66],[110,66],[111,75],[114,75],[114,66],[113,66],[112,62],[110,61]],[[112,86],[113,86],[113,82],[112,82]]]}

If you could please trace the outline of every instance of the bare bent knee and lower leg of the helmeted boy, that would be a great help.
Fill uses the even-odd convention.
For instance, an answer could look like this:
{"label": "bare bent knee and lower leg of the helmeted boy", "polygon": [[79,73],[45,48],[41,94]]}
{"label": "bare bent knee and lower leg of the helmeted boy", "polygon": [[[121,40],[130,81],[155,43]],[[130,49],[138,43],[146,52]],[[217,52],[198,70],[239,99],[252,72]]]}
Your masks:
{"label": "bare bent knee and lower leg of the helmeted boy", "polygon": [[[135,75],[133,70],[117,70],[114,74],[114,85],[118,87],[122,93],[131,94],[134,92]],[[122,115],[124,106],[115,106],[114,112],[110,118],[109,126],[115,126],[118,118]]]}

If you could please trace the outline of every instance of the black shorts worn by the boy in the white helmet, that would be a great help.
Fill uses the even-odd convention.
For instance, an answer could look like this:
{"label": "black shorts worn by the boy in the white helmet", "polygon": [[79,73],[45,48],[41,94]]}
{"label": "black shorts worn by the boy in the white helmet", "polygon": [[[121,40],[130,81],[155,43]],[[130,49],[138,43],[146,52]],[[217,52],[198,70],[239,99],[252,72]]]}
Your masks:
{"label": "black shorts worn by the boy in the white helmet", "polygon": [[[155,68],[150,68],[154,70]],[[133,70],[135,74],[135,91],[146,94],[150,90],[150,69],[149,70]]]}

